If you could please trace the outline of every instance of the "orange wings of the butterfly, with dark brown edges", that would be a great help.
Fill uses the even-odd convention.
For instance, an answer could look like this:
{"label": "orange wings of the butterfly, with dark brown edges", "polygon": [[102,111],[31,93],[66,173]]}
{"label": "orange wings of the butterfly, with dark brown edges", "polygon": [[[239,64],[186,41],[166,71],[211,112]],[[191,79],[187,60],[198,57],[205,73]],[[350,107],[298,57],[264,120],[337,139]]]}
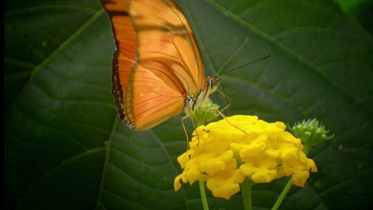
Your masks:
{"label": "orange wings of the butterfly, with dark brown edges", "polygon": [[120,117],[137,130],[153,128],[197,96],[204,69],[187,19],[173,1],[102,0],[111,18],[113,95]]}

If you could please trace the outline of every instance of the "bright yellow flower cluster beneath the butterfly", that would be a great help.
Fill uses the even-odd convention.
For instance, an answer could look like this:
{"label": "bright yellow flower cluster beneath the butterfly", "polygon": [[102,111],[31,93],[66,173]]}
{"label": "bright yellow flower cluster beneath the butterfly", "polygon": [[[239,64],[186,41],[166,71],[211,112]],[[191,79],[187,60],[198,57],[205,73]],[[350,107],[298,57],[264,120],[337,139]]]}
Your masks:
{"label": "bright yellow flower cluster beneath the butterfly", "polygon": [[304,187],[309,171],[317,172],[316,164],[303,153],[300,139],[285,128],[283,122],[268,123],[250,115],[199,126],[190,149],[178,157],[184,171],[175,178],[175,191],[180,180],[201,180],[215,197],[229,199],[246,178],[263,183],[290,175],[292,184]]}

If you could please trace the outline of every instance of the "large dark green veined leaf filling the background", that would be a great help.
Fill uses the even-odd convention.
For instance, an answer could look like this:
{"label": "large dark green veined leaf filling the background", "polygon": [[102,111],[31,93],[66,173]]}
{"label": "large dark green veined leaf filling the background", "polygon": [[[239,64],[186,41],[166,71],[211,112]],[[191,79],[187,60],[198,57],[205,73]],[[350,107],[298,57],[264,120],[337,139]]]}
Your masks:
{"label": "large dark green veined leaf filling the background", "polygon": [[[284,209],[368,209],[373,39],[332,1],[178,1],[207,73],[242,44],[222,78],[230,114],[269,122],[318,117],[336,138],[309,153],[319,172]],[[110,23],[99,1],[6,1],[6,202],[17,209],[201,209],[198,187],[173,191],[185,150],[180,117],[130,131],[111,96]],[[217,97],[217,102],[224,99]],[[223,105],[223,104],[222,104]],[[254,187],[268,209],[286,180]],[[208,193],[211,209],[242,209]]]}

